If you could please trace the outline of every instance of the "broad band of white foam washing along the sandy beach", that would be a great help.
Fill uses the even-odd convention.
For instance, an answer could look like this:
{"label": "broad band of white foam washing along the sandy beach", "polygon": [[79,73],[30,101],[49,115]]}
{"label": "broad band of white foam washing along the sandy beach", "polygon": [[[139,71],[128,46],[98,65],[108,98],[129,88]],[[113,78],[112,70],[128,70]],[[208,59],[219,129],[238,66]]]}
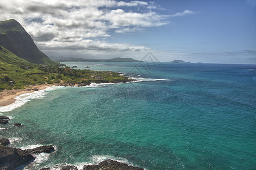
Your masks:
{"label": "broad band of white foam washing along the sandy beach", "polygon": [[45,94],[47,94],[48,91],[54,90],[56,89],[56,87],[58,86],[52,86],[52,87],[45,88],[44,90],[39,90],[39,91],[19,95],[14,98],[16,99],[14,103],[10,105],[6,105],[4,107],[0,107],[0,112],[10,112],[13,109],[22,107],[22,105],[26,104],[31,99],[41,99],[45,96]]}

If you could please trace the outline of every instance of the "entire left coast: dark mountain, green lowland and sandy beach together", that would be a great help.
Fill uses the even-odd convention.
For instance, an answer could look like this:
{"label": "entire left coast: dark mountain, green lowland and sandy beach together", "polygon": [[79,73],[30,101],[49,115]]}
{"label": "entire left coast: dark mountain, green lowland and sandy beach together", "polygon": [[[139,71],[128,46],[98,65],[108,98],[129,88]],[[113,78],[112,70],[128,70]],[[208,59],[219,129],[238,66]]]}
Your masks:
{"label": "entire left coast: dark mountain, green lowland and sandy beach together", "polygon": [[41,52],[16,20],[0,22],[0,105],[13,103],[17,95],[52,85],[87,86],[129,81],[130,78],[112,71],[64,67]]}

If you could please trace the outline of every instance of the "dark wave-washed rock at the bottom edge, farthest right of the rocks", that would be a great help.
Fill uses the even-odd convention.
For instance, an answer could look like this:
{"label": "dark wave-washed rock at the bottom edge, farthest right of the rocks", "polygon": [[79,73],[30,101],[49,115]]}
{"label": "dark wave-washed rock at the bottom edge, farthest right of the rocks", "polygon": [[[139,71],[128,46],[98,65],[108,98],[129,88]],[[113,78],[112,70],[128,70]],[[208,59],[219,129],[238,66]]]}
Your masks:
{"label": "dark wave-washed rock at the bottom edge, farthest right of the rocks", "polygon": [[133,167],[131,165],[117,162],[116,160],[107,159],[100,162],[98,165],[84,165],[83,170],[99,170],[99,169],[113,169],[113,170],[143,170],[143,168]]}

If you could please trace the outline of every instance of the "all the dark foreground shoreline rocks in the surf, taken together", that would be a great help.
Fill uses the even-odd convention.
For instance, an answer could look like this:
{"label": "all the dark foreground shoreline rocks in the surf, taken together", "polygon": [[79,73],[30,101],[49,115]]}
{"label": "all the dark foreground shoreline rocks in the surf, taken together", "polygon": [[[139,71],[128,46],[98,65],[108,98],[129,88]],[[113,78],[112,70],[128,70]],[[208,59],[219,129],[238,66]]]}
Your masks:
{"label": "all the dark foreground shoreline rocks in the surf, taken together", "polygon": [[[0,116],[0,120],[9,120],[9,117]],[[9,122],[7,122],[9,123]],[[3,123],[3,124],[7,124]],[[20,126],[21,124],[15,123],[14,126]],[[1,170],[11,170],[18,168],[22,165],[27,165],[32,163],[36,159],[36,154],[40,153],[51,153],[55,149],[52,145],[50,146],[40,146],[32,149],[22,150],[20,148],[9,147],[10,141],[7,138],[0,139],[0,169]],[[78,170],[74,165],[59,166],[61,170]],[[51,170],[56,169],[56,167],[44,167],[41,170]],[[116,160],[107,159],[103,162],[94,165],[84,165],[83,170],[143,170],[143,168],[133,167],[131,165],[117,162]]]}

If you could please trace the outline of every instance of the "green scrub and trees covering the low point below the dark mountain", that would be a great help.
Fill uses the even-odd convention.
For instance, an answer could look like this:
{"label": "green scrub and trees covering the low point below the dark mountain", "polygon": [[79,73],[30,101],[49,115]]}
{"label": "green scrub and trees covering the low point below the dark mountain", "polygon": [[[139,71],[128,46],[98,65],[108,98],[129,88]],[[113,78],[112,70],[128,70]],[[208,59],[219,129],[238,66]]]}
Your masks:
{"label": "green scrub and trees covering the low point below the dark mountain", "polygon": [[0,45],[0,91],[24,89],[29,85],[45,83],[62,86],[86,86],[92,82],[128,81],[127,77],[112,71],[77,70],[60,65],[36,65],[15,56]]}

